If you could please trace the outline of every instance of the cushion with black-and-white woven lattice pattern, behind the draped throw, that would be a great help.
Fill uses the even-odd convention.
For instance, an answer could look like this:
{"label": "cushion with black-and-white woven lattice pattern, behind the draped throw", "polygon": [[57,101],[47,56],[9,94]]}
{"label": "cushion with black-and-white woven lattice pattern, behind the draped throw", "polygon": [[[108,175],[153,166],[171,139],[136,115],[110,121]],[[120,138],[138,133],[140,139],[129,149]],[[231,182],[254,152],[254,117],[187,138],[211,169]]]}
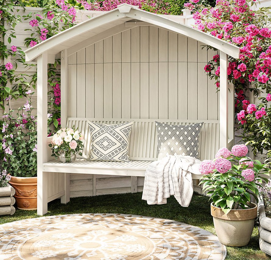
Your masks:
{"label": "cushion with black-and-white woven lattice pattern, behind the draped throw", "polygon": [[203,122],[167,125],[156,122],[158,160],[167,155],[189,155],[199,159],[199,134]]}

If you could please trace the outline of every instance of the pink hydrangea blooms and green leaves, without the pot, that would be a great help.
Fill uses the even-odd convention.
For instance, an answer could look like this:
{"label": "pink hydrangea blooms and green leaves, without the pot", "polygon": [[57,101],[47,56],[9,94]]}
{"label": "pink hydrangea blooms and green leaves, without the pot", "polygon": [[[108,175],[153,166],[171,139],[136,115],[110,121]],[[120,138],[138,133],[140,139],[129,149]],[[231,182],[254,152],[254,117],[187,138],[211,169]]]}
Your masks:
{"label": "pink hydrangea blooms and green leaves, without the pot", "polygon": [[207,191],[210,200],[225,214],[238,206],[248,208],[250,195],[258,201],[263,181],[268,182],[263,175],[269,175],[269,165],[252,160],[247,153],[244,144],[234,145],[231,151],[223,147],[214,160],[204,160],[200,164],[203,176],[199,184],[203,184],[203,191]]}

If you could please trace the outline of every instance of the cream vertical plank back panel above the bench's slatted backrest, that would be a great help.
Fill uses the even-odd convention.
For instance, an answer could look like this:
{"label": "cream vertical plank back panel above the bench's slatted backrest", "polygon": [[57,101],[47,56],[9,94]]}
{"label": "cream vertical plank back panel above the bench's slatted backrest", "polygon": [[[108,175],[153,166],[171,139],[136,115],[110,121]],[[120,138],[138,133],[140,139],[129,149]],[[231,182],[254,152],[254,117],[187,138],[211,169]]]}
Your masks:
{"label": "cream vertical plank back panel above the bench's slatted backrest", "polygon": [[201,45],[138,26],[80,50],[69,56],[68,117],[218,120],[203,70],[217,52]]}

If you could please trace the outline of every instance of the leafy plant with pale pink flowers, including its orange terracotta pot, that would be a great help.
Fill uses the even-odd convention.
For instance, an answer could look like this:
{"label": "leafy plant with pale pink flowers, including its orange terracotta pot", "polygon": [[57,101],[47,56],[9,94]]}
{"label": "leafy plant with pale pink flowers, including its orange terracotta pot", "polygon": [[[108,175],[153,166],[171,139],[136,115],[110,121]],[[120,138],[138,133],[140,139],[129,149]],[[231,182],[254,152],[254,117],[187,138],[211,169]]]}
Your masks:
{"label": "leafy plant with pale pink flowers, including its orange terracotta pot", "polygon": [[15,111],[10,108],[3,115],[2,148],[5,157],[2,167],[11,175],[10,185],[19,209],[37,208],[37,117],[32,115],[32,90],[26,93],[27,101]]}

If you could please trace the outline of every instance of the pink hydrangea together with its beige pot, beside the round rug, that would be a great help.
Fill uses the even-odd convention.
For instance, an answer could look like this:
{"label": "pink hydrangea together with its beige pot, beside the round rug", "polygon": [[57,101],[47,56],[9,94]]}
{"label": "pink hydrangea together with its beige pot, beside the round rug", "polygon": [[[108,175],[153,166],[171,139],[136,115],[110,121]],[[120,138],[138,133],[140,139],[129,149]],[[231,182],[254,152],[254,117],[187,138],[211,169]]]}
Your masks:
{"label": "pink hydrangea together with its beige pot, beside the round rug", "polygon": [[211,215],[219,241],[227,246],[245,246],[248,244],[255,218],[259,187],[263,175],[269,175],[267,164],[246,157],[248,148],[235,145],[231,151],[221,148],[216,158],[204,160],[200,172],[204,174],[200,184],[210,196]]}

